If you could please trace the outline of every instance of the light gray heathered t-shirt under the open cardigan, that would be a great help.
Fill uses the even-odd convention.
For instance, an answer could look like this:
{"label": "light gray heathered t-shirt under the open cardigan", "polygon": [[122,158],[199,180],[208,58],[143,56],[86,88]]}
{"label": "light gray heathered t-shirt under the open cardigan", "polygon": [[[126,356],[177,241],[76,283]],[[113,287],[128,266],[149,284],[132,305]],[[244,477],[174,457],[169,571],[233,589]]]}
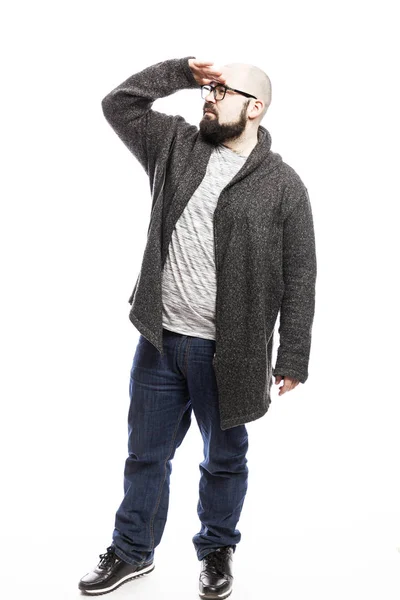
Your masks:
{"label": "light gray heathered t-shirt under the open cardigan", "polygon": [[217,146],[203,181],[176,223],[162,273],[162,322],[169,331],[215,340],[213,215],[222,189],[246,159]]}

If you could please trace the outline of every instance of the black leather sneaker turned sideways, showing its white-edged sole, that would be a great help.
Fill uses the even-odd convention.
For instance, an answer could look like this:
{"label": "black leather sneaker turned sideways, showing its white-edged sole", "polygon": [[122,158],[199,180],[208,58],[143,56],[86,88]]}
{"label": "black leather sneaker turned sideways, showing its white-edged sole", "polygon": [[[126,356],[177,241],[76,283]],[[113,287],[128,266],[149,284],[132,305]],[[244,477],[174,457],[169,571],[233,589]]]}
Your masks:
{"label": "black leather sneaker turned sideways, showing its white-edged sole", "polygon": [[105,554],[99,554],[100,562],[91,571],[82,577],[79,582],[79,589],[85,594],[99,596],[112,592],[117,587],[150,573],[154,569],[153,560],[144,565],[130,565],[114,552],[114,546],[109,546]]}

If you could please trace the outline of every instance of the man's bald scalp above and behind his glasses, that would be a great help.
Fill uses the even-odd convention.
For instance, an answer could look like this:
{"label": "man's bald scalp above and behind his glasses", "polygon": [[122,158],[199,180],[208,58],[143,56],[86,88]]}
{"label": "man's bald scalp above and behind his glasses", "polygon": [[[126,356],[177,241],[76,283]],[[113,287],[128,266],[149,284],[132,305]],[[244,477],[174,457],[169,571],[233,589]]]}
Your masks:
{"label": "man's bald scalp above and behind his glasses", "polygon": [[257,96],[264,103],[260,121],[271,104],[272,87],[266,73],[258,67],[246,63],[230,63],[223,67],[226,72],[227,85]]}

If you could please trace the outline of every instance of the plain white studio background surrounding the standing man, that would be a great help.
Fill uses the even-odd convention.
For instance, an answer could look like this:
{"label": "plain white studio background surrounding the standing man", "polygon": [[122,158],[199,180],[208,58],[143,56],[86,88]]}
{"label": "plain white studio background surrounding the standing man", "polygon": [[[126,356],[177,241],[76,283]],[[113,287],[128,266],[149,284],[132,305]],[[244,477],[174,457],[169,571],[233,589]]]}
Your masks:
{"label": "plain white studio background surrounding the standing man", "polygon": [[[78,598],[111,542],[139,337],[128,297],[151,200],[101,100],[192,55],[268,73],[262,124],[308,188],[317,242],[309,379],[282,397],[274,386],[267,415],[248,424],[232,597],[398,599],[395,2],[9,2],[0,20],[7,598]],[[154,105],[194,124],[202,106],[196,90]],[[115,598],[198,597],[201,460],[193,419],[156,569]]]}

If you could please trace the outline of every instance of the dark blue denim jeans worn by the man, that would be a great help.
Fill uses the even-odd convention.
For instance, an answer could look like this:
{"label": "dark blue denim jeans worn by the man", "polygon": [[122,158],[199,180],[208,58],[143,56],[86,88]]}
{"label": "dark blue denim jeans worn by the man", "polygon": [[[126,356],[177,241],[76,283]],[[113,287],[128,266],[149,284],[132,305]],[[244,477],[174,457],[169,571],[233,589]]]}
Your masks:
{"label": "dark blue denim jeans worn by the man", "polygon": [[189,430],[192,408],[204,442],[192,538],[197,557],[240,541],[236,529],[247,492],[245,425],[222,430],[212,359],[215,341],[163,329],[164,356],[140,335],[130,373],[124,498],[112,545],[130,564],[154,557],[167,520],[171,459]]}

